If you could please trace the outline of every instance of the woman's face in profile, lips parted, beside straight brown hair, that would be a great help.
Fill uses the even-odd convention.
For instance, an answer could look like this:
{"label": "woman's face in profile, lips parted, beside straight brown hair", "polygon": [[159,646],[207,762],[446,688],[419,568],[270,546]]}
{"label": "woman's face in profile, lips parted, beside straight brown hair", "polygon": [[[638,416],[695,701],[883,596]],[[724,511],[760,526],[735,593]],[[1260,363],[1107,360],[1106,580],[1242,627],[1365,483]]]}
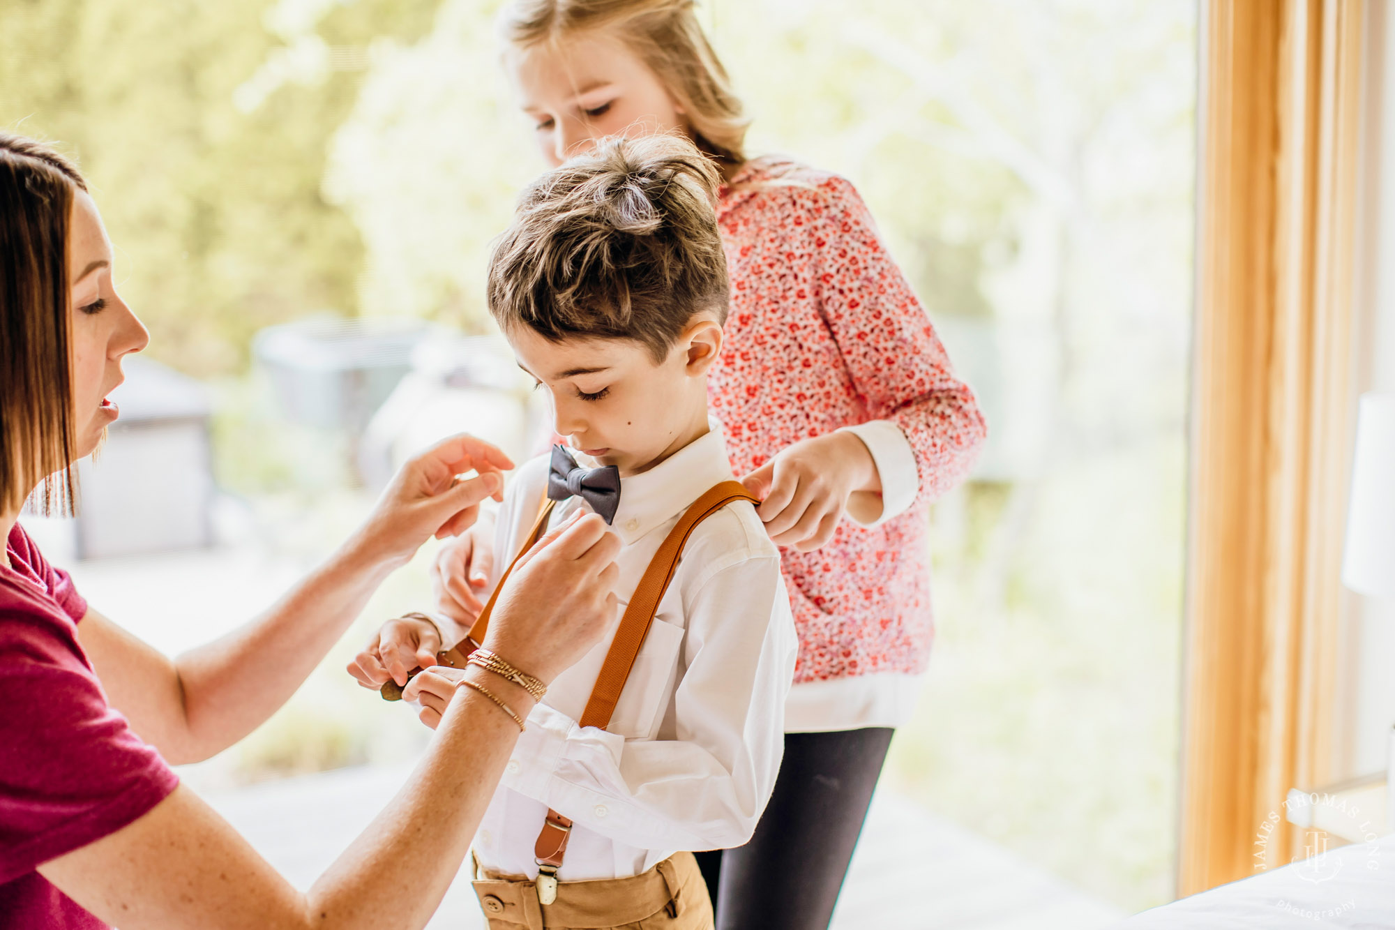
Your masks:
{"label": "woman's face in profile, lips parted, beside straight brown hair", "polygon": [[116,293],[112,242],[96,204],[81,190],[73,197],[68,275],[74,454],[82,458],[116,422],[116,405],[106,397],[126,380],[121,359],[144,349],[151,335]]}

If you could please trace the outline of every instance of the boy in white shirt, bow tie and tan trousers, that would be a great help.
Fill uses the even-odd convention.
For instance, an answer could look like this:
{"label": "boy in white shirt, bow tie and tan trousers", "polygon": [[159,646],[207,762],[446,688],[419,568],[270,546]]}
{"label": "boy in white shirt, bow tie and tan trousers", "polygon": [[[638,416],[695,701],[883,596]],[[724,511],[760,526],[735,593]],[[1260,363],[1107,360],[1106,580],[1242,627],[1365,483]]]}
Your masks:
{"label": "boy in white shirt, bow tie and tan trousers", "polygon": [[[605,140],[523,194],[490,265],[490,311],[569,447],[511,483],[495,575],[537,529],[544,499],[557,503],[543,529],[594,510],[624,543],[617,626],[670,531],[732,480],[706,388],[728,296],[718,183],[684,140]],[[755,829],[780,767],[797,640],[778,552],[748,500],[696,524],[681,553],[608,723],[579,721],[614,634],[527,714],[474,838],[476,890],[497,930],[711,926],[691,852]],[[466,633],[442,617],[389,621],[359,656],[360,679],[381,684],[385,665],[412,667]],[[407,697],[430,719],[456,679],[432,667]],[[561,864],[544,852],[544,822],[565,839]]]}

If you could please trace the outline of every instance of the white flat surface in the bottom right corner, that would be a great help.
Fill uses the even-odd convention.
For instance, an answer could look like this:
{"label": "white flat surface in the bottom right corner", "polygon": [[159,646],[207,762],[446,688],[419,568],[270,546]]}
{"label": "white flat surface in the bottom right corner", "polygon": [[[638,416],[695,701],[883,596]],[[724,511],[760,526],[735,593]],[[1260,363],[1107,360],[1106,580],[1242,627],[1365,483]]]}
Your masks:
{"label": "white flat surface in the bottom right corner", "polygon": [[1162,908],[1120,930],[1367,930],[1395,927],[1395,834],[1339,846]]}

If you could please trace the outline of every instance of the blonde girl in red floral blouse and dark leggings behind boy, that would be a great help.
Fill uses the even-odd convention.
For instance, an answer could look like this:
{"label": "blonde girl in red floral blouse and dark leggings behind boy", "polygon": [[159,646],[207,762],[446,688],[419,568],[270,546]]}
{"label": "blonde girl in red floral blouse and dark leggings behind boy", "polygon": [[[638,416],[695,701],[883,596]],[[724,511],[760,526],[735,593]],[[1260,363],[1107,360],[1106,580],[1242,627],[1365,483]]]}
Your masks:
{"label": "blonde girl in red floral blouse and dark leggings behind boy", "polygon": [[[925,504],[965,475],[983,419],[852,184],[746,156],[692,0],[515,0],[501,28],[550,165],[605,135],[678,131],[723,172],[731,314],[710,401],[781,546],[799,659],[760,825],[699,860],[718,927],[826,927],[929,659]],[[490,532],[435,566],[439,607],[465,626]]]}

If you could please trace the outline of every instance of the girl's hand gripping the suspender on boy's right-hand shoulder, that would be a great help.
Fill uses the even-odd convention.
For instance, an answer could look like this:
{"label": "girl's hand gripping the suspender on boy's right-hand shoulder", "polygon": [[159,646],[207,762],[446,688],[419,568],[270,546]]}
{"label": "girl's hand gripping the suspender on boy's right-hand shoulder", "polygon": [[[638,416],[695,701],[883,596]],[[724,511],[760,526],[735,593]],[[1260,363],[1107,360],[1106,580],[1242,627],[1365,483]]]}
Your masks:
{"label": "girl's hand gripping the suspender on boy's right-hand shoulder", "polygon": [[813,552],[833,539],[850,503],[858,518],[880,512],[882,480],[854,433],[829,433],[781,450],[741,479],[762,500],[756,514],[777,546]]}

